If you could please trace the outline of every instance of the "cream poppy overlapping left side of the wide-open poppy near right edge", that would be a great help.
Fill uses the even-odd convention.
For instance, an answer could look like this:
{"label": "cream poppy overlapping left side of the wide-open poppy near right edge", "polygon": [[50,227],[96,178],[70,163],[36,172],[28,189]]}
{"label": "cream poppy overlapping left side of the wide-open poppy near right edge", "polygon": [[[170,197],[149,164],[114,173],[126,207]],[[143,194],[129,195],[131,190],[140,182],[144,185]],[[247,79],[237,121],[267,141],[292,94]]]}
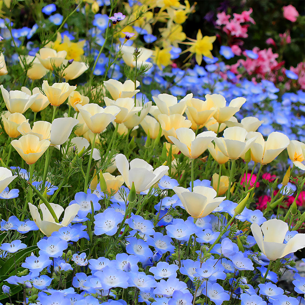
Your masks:
{"label": "cream poppy overlapping left side of the wide-open poppy near right edge", "polygon": [[220,151],[230,159],[238,159],[248,151],[250,145],[255,141],[256,137],[249,137],[246,140],[247,131],[242,127],[229,127],[224,131],[223,138],[215,138],[215,144]]}

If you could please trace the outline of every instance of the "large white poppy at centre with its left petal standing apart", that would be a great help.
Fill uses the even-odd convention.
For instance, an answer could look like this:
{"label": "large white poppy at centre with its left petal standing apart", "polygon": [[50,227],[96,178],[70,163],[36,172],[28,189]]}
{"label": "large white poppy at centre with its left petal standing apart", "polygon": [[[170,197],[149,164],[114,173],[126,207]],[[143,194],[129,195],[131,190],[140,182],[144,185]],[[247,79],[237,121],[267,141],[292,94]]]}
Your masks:
{"label": "large white poppy at centre with its left petal standing apart", "polygon": [[131,189],[132,182],[135,183],[137,193],[146,191],[158,182],[168,171],[168,166],[161,165],[153,170],[153,167],[145,160],[134,159],[128,163],[123,154],[115,157],[117,169],[124,178],[126,186]]}

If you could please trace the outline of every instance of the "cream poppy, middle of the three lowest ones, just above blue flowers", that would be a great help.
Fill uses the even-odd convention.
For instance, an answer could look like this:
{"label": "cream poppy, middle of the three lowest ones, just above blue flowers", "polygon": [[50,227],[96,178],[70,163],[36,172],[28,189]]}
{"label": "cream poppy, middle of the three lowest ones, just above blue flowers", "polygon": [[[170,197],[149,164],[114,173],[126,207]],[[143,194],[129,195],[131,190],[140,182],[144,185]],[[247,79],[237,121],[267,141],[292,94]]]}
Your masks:
{"label": "cream poppy, middle of the three lowest ones, just above blue flowers", "polygon": [[206,186],[194,186],[192,192],[181,186],[175,186],[173,190],[181,200],[185,210],[194,218],[209,215],[226,198],[216,197],[217,192]]}

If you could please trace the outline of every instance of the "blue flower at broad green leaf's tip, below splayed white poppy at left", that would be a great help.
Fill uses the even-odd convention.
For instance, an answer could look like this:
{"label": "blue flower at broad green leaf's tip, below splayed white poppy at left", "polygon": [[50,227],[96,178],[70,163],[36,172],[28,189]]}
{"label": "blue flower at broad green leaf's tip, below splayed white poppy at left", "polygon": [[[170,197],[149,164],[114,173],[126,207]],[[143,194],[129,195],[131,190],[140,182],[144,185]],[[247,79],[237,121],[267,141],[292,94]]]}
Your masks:
{"label": "blue flower at broad green leaf's tip, below splayed white poppy at left", "polygon": [[63,250],[68,248],[68,243],[59,237],[50,236],[47,239],[41,239],[37,246],[40,249],[40,255],[47,254],[49,257],[60,257],[63,255]]}

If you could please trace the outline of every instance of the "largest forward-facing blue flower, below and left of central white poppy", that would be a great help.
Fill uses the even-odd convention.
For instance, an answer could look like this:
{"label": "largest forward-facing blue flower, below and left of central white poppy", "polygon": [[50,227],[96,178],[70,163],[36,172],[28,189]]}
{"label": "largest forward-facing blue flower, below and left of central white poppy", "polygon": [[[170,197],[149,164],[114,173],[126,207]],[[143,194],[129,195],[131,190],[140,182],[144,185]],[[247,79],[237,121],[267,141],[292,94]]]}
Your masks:
{"label": "largest forward-facing blue flower, below and left of central white poppy", "polygon": [[120,212],[112,208],[106,209],[103,213],[94,216],[94,234],[95,235],[114,235],[117,233],[117,225],[124,219]]}

